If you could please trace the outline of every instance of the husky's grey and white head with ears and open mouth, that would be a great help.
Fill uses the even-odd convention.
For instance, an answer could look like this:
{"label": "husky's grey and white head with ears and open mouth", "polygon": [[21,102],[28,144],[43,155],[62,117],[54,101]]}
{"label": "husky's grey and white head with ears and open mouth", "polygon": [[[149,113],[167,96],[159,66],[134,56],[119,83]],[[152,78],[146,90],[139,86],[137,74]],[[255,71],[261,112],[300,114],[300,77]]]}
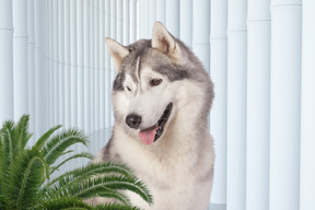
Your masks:
{"label": "husky's grey and white head with ears and open mouth", "polygon": [[[212,83],[202,65],[162,23],[154,24],[152,39],[122,46],[107,37],[106,44],[117,70],[113,85],[116,121],[144,144],[162,138],[176,112],[201,94],[207,97],[207,89],[212,101]],[[201,83],[206,84],[202,93]],[[200,102],[207,116],[210,105]]]}

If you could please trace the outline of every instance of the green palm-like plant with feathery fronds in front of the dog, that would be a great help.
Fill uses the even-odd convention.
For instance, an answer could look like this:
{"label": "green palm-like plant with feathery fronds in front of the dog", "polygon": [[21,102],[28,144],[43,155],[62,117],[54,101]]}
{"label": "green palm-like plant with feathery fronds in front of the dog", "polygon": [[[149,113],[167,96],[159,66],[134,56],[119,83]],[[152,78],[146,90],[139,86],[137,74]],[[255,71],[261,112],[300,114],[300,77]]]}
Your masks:
{"label": "green palm-like plant with feathery fronds in front of the dog", "polygon": [[[52,136],[61,126],[44,133],[33,147],[27,147],[27,115],[14,124],[8,120],[0,129],[0,209],[133,209],[124,190],[131,190],[152,203],[143,183],[121,163],[97,163],[69,171],[54,179],[50,175],[65,163],[78,158],[92,159],[86,152],[74,153],[57,164],[73,144],[88,145],[86,136],[75,129]],[[117,203],[89,206],[84,199],[115,198]]]}

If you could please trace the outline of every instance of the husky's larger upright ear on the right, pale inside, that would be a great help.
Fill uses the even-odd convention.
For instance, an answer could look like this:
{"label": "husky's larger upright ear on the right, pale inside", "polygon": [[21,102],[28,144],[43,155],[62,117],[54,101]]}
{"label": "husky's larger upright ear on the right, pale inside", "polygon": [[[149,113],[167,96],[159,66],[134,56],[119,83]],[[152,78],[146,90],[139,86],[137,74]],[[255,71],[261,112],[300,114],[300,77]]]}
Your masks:
{"label": "husky's larger upright ear on the right, pale inside", "polygon": [[161,22],[155,22],[152,32],[151,46],[166,54],[174,61],[182,57],[182,50],[175,38]]}

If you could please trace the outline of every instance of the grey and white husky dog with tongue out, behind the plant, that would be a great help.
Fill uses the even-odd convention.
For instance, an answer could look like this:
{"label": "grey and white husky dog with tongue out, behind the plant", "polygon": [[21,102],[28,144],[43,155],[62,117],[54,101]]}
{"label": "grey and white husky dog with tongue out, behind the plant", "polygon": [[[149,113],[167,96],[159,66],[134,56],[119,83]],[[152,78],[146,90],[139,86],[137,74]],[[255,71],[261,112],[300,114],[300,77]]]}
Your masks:
{"label": "grey and white husky dog with tongue out, behind the plant", "polygon": [[208,209],[214,163],[208,130],[213,85],[201,62],[160,22],[152,39],[122,46],[107,37],[106,44],[117,70],[115,125],[94,162],[125,162],[147,184],[153,205],[130,192],[132,205]]}

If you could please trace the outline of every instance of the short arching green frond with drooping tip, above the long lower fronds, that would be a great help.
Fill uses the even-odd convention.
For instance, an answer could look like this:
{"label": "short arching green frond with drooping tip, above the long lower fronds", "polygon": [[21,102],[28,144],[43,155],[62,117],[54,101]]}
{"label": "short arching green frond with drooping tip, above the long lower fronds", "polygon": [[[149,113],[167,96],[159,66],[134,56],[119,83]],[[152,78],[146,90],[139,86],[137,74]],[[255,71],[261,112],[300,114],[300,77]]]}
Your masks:
{"label": "short arching green frond with drooping tip, above the long lower fronds", "polygon": [[49,139],[44,145],[42,152],[47,164],[51,165],[70,145],[82,143],[88,147],[88,137],[82,131],[70,129]]}

